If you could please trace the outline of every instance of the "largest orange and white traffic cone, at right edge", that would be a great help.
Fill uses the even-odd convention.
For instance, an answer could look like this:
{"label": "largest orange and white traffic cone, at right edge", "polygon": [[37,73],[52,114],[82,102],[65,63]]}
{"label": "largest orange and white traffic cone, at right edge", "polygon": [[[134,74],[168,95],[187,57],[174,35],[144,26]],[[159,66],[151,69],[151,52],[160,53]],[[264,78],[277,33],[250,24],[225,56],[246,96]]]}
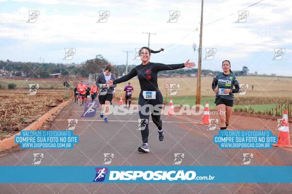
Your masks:
{"label": "largest orange and white traffic cone, at right edge", "polygon": [[278,142],[273,144],[277,147],[292,147],[290,145],[290,134],[289,134],[289,124],[288,124],[288,113],[284,110],[282,121],[278,132]]}

